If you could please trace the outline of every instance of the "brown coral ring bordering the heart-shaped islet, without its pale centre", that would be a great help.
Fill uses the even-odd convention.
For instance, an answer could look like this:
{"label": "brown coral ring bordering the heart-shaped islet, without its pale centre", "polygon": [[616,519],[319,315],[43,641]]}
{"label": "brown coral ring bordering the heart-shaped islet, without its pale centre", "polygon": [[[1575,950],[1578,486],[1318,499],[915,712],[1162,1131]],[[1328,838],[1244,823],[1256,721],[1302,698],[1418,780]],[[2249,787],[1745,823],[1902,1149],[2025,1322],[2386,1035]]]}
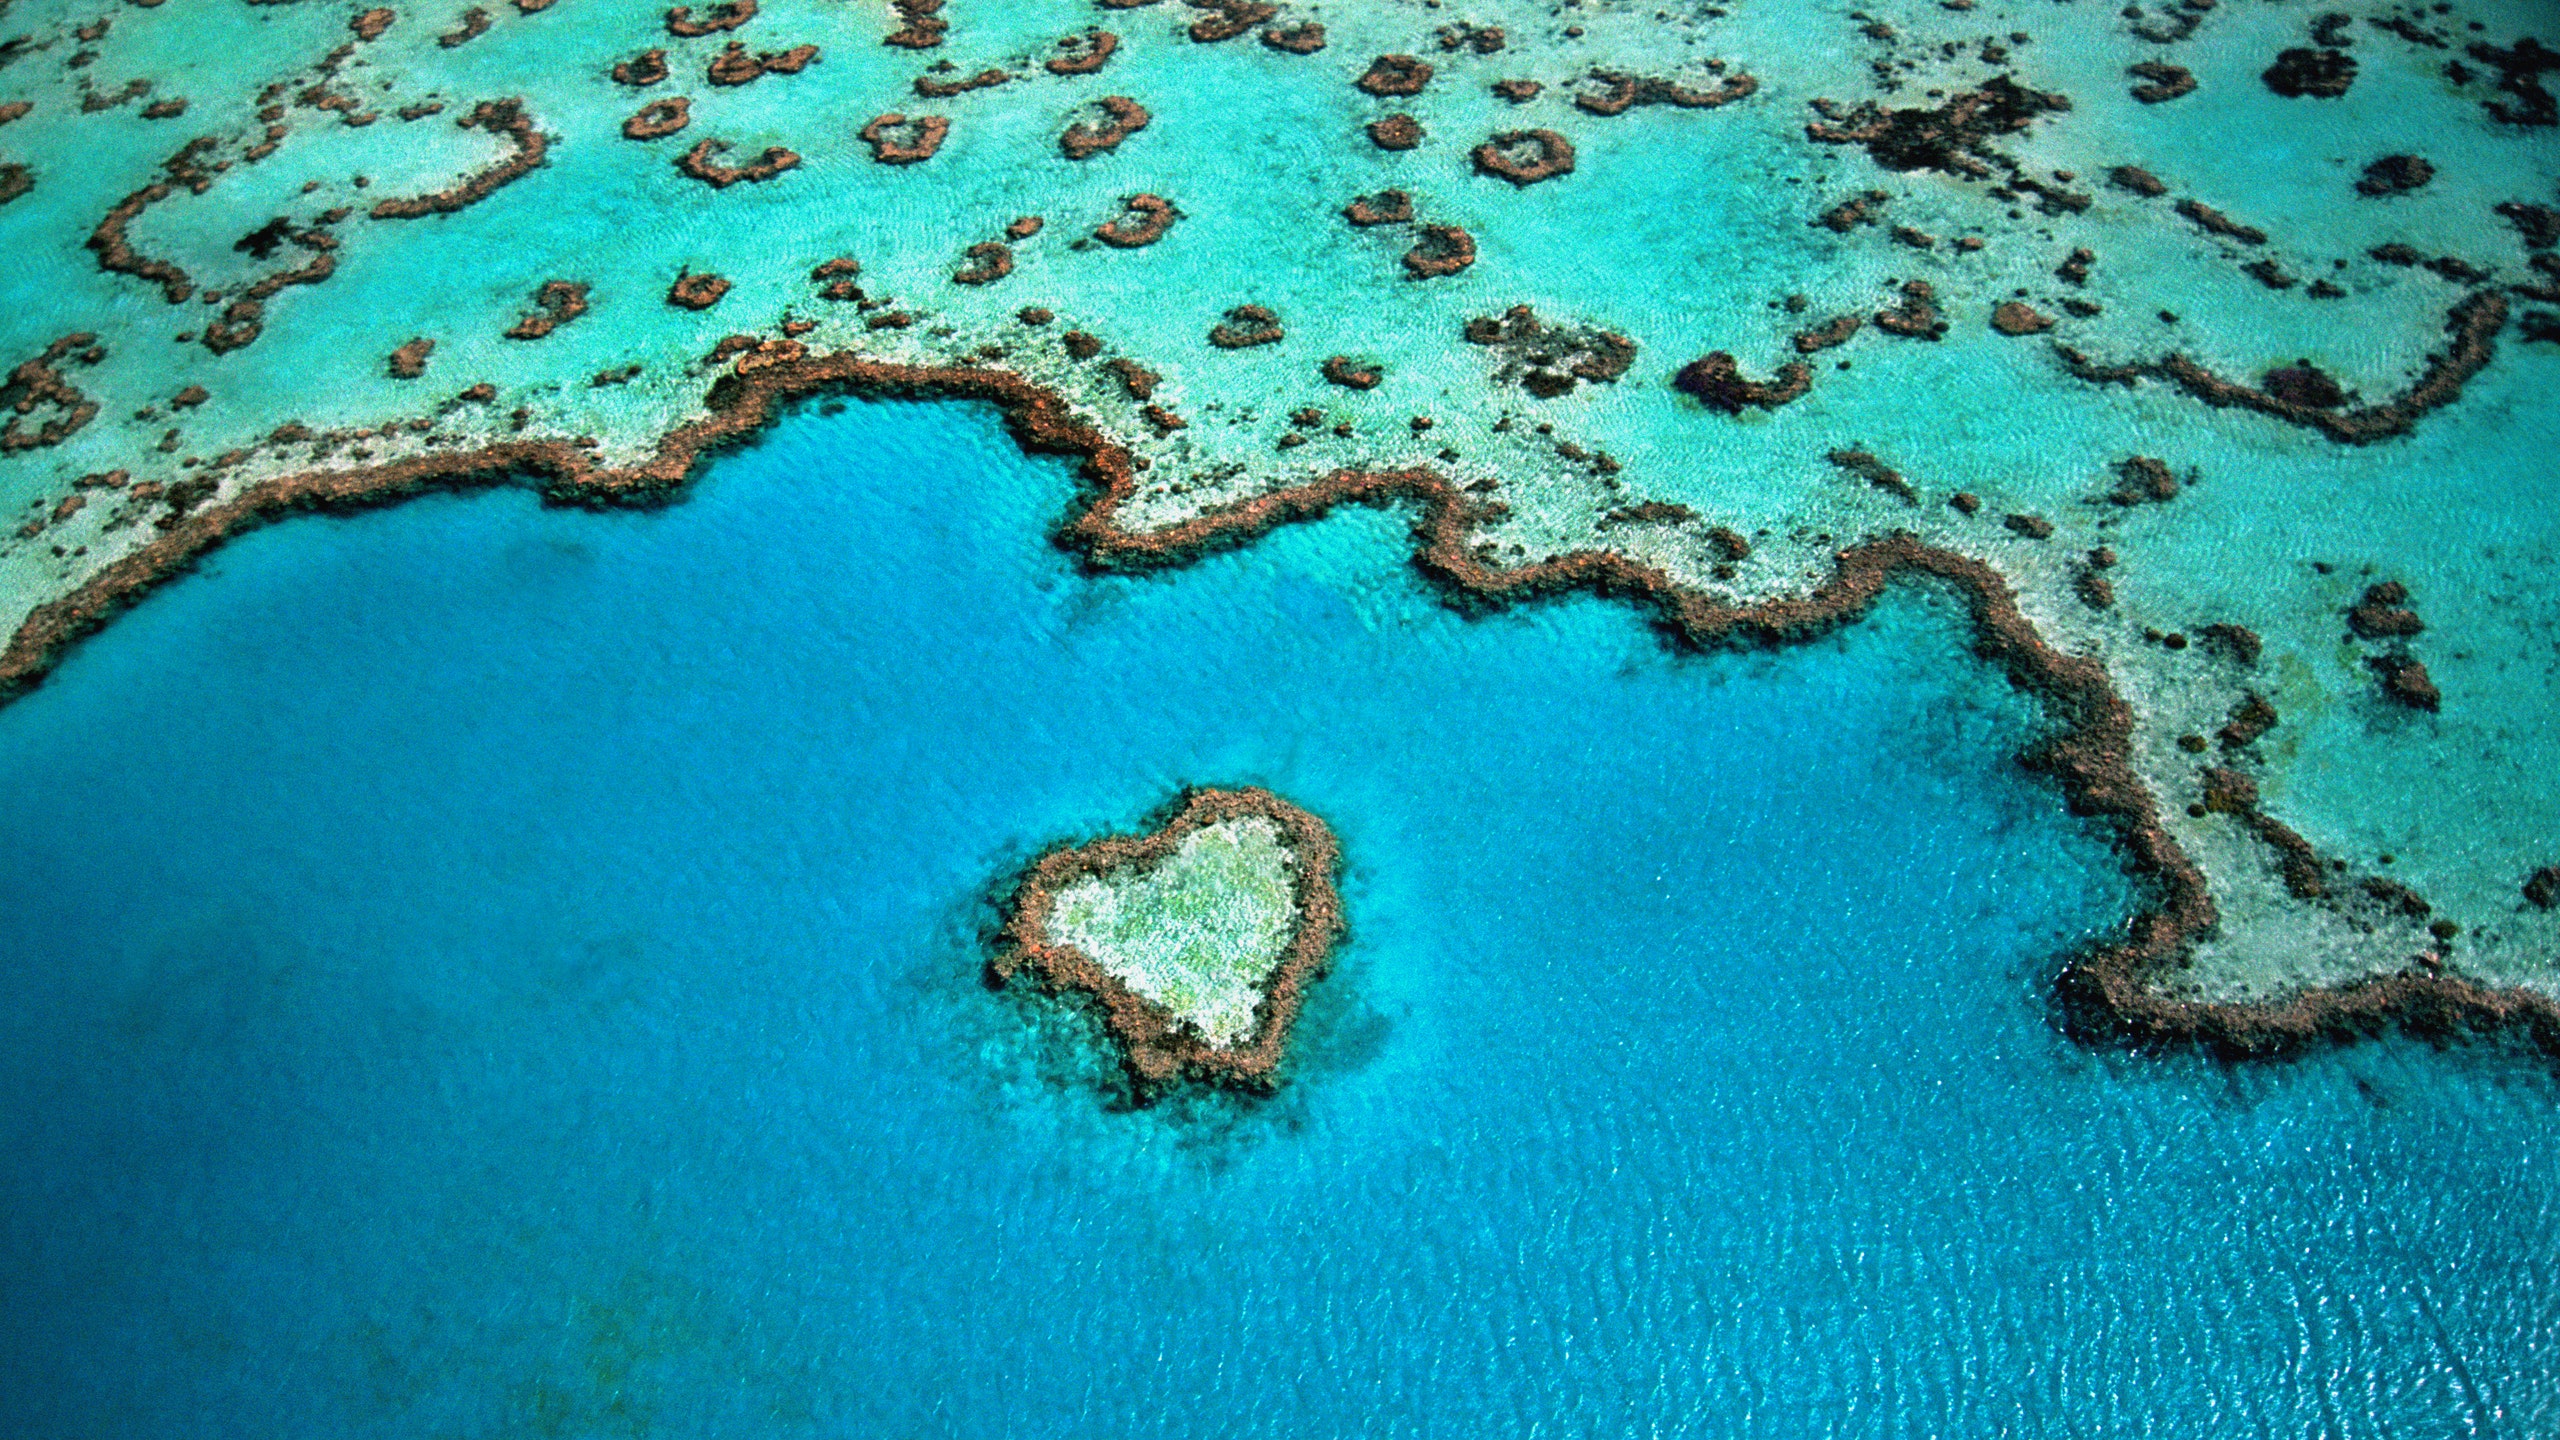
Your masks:
{"label": "brown coral ring bordering the heart-shaped islet, without its pale centre", "polygon": [[[1057,892],[1085,879],[1124,869],[1147,869],[1170,856],[1190,833],[1239,817],[1262,817],[1280,828],[1295,853],[1298,925],[1288,951],[1262,981],[1262,1004],[1254,1007],[1254,1033],[1236,1045],[1208,1045],[1196,1030],[1178,1025],[1172,1012],[1144,999],[1114,974],[1093,963],[1073,945],[1052,943],[1047,935],[1050,907]],[[1190,789],[1165,822],[1144,835],[1114,835],[1088,846],[1062,846],[1032,863],[1014,892],[996,956],[988,961],[998,981],[1029,971],[1050,992],[1080,992],[1103,1015],[1111,1038],[1121,1043],[1129,1076],[1139,1086],[1165,1086],[1193,1076],[1203,1081],[1247,1089],[1272,1089],[1277,1084],[1280,1056],[1288,1048],[1288,1030],[1341,938],[1341,894],[1334,889],[1334,871],[1341,853],[1334,833],[1306,810],[1280,799],[1267,789]]]}

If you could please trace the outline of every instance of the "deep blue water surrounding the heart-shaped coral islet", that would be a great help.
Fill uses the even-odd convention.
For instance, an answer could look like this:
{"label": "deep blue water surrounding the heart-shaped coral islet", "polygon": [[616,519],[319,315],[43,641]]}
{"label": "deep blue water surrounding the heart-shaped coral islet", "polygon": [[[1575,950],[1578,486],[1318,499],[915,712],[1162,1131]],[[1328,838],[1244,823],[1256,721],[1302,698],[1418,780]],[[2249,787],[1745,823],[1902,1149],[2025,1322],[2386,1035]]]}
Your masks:
{"label": "deep blue water surrounding the heart-shaped coral islet", "polygon": [[[2552,1435],[2555,1086],[2056,1035],[2130,904],[1953,607],[1083,579],[978,407],[259,533],[0,712],[0,1435]],[[991,887],[1326,815],[1280,1099]]]}

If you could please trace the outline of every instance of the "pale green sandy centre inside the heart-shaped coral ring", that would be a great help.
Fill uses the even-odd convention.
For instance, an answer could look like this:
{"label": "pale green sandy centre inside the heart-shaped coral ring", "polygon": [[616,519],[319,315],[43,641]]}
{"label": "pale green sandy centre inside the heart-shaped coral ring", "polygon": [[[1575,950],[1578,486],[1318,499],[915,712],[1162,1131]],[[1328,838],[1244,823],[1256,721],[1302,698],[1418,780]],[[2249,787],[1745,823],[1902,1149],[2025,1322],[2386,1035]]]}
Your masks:
{"label": "pale green sandy centre inside the heart-shaped coral ring", "polygon": [[1057,892],[1050,935],[1201,1030],[1211,1045],[1254,1033],[1262,981],[1298,922],[1298,856],[1260,815],[1203,825],[1152,869],[1085,876]]}

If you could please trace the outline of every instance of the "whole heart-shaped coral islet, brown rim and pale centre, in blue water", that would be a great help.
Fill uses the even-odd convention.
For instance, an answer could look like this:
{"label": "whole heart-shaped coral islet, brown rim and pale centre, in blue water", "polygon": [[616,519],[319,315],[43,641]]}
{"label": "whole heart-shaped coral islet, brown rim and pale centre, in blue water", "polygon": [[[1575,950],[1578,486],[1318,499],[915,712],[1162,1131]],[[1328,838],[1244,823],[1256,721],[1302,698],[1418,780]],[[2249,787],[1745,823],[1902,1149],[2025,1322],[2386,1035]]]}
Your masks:
{"label": "whole heart-shaped coral islet, brown rim and pale centre, in blue water", "polygon": [[1039,856],[991,974],[1093,997],[1142,1089],[1270,1089],[1341,935],[1336,858],[1324,820],[1267,789],[1190,789],[1155,830]]}

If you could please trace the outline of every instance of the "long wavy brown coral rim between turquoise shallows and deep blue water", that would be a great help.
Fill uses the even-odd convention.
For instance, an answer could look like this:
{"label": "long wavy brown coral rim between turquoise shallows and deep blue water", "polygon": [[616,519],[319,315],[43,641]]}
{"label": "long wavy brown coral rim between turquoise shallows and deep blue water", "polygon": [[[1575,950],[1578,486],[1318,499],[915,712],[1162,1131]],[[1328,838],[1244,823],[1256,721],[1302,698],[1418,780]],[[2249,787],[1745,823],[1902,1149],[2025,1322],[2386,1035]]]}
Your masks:
{"label": "long wavy brown coral rim between turquoise shallows and deep blue water", "polygon": [[[389,505],[430,489],[479,489],[515,474],[543,477],[553,500],[573,505],[663,502],[686,484],[707,451],[773,423],[788,400],[829,389],[988,400],[1004,407],[1027,448],[1083,456],[1088,489],[1065,523],[1062,541],[1096,569],[1183,564],[1344,505],[1413,505],[1416,564],[1452,597],[1477,610],[1556,594],[1618,597],[1654,615],[1677,643],[1700,648],[1815,638],[1864,615],[1900,579],[1943,582],[1969,612],[1974,653],[2040,694],[2058,723],[2058,733],[2030,753],[2033,769],[2063,789],[2074,812],[2115,830],[2130,869],[2148,887],[2120,938],[2076,956],[2056,979],[2056,1002],[2071,1035],[2086,1043],[2273,1056],[2404,1022],[2429,1033],[2519,1030],[2560,1056],[2560,1004],[2540,992],[2488,989],[2429,966],[2258,1004],[2163,992],[2161,976],[2217,925],[2217,910],[2202,871],[2161,825],[2156,797],[2132,771],[2132,707],[2097,659],[2048,646],[2007,582],[1976,559],[1915,536],[1887,536],[1838,551],[1830,577],[1807,594],[1736,605],[1608,551],[1503,566],[1475,546],[1485,502],[1428,469],[1331,471],[1175,525],[1129,530],[1119,515],[1139,492],[1137,456],[1080,420],[1065,397],[1016,374],[973,366],[901,366],[835,354],[724,374],[707,397],[709,415],[668,430],[648,459],[627,469],[607,469],[594,451],[571,441],[512,438],[248,484],[177,518],[151,543],[33,610],[0,651],[0,694],[31,689],[74,643],[138,597],[271,520]],[[2552,889],[2560,889],[2560,879]]]}

